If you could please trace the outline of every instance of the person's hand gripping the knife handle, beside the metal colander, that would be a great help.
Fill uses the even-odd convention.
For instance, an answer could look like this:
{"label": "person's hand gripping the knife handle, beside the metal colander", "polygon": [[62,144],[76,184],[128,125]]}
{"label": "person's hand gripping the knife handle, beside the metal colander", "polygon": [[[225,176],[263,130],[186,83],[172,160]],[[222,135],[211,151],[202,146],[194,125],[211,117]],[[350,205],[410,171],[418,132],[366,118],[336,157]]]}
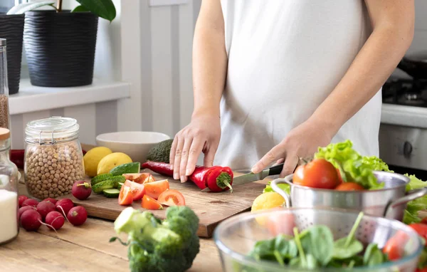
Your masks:
{"label": "person's hand gripping the knife handle, beside the metal colander", "polygon": [[280,177],[292,174],[297,167],[298,161],[303,157],[312,157],[318,147],[329,145],[334,132],[327,125],[307,120],[291,130],[280,144],[276,145],[257,162],[252,172],[258,173],[267,168],[273,162],[281,163],[283,170]]}

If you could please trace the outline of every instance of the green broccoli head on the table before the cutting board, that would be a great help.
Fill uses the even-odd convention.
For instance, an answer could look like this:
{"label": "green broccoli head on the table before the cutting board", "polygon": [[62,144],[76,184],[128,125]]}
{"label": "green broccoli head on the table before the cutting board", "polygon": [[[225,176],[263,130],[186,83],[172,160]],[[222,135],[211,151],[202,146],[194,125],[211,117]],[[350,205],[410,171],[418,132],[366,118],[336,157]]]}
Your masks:
{"label": "green broccoli head on the table before the cutting board", "polygon": [[[167,272],[191,268],[200,251],[199,217],[187,206],[171,206],[165,220],[128,207],[115,220],[117,234],[128,235],[130,271]],[[113,237],[110,241],[115,241]],[[119,239],[120,240],[120,239]]]}

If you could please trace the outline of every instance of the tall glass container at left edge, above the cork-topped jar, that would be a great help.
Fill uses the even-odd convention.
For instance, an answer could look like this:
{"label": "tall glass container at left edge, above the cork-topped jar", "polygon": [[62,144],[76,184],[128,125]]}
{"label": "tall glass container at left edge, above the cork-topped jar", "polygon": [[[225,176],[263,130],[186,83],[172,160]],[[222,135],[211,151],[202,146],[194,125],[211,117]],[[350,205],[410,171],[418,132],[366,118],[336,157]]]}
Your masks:
{"label": "tall glass container at left edge, above the cork-topped jar", "polygon": [[6,39],[0,38],[0,127],[10,129],[9,87],[7,83]]}

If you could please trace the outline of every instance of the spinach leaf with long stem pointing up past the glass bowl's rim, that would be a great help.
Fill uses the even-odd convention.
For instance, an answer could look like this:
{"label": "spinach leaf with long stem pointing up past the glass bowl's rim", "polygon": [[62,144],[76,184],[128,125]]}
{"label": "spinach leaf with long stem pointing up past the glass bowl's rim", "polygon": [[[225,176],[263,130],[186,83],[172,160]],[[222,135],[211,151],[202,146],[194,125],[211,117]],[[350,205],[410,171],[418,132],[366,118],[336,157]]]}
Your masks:
{"label": "spinach leaf with long stem pointing up past the glass bowl's rim", "polygon": [[350,258],[363,251],[363,245],[354,238],[354,234],[362,221],[363,212],[359,213],[349,235],[334,242],[333,257],[338,259]]}

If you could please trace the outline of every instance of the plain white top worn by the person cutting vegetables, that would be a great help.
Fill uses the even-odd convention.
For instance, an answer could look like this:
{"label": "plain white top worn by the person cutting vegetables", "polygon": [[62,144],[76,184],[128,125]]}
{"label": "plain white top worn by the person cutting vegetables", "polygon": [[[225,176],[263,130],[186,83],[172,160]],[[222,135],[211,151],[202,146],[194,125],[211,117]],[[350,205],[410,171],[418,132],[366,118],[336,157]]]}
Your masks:
{"label": "plain white top worn by the person cutting vegetables", "polygon": [[[370,20],[363,0],[221,6],[228,72],[214,163],[250,169],[332,92],[371,33]],[[332,142],[349,139],[362,155],[378,156],[380,119],[381,90]]]}

